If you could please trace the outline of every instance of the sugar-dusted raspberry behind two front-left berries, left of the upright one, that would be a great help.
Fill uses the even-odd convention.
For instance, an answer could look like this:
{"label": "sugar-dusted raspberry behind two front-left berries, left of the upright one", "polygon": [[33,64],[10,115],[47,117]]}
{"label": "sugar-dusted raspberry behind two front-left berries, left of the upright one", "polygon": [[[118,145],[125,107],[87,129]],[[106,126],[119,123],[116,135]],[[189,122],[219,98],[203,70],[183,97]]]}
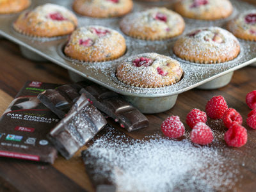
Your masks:
{"label": "sugar-dusted raspberry behind two front-left berries, left of the upright one", "polygon": [[193,128],[198,122],[207,122],[207,115],[204,111],[200,111],[199,109],[192,109],[186,118],[186,123],[189,127]]}

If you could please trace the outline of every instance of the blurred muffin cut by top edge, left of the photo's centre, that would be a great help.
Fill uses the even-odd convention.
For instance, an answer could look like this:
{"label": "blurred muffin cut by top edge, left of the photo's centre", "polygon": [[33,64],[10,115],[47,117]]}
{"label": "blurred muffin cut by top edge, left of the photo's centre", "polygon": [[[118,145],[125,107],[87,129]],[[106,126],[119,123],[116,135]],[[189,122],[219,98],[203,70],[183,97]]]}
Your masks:
{"label": "blurred muffin cut by top edge, left of the photo's centre", "polygon": [[89,17],[120,17],[131,12],[132,0],[74,0],[73,9]]}

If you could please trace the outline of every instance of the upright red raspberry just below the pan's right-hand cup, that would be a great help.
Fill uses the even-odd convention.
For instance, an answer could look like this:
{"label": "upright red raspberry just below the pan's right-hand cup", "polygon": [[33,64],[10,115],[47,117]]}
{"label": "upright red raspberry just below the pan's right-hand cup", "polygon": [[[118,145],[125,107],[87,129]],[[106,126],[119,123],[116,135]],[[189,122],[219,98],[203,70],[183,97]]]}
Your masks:
{"label": "upright red raspberry just below the pan's right-hand cup", "polygon": [[205,106],[207,116],[213,119],[222,118],[227,109],[227,102],[221,95],[212,97]]}

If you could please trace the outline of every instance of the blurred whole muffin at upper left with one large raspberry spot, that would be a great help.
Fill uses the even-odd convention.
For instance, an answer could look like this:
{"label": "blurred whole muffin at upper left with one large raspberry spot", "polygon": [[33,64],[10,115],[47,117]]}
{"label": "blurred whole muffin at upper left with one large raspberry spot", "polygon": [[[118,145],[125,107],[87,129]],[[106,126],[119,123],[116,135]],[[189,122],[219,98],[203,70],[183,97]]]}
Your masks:
{"label": "blurred whole muffin at upper left with one large raspberry spot", "polygon": [[21,13],[13,24],[14,29],[20,33],[40,37],[67,35],[76,26],[77,18],[72,12],[51,3]]}

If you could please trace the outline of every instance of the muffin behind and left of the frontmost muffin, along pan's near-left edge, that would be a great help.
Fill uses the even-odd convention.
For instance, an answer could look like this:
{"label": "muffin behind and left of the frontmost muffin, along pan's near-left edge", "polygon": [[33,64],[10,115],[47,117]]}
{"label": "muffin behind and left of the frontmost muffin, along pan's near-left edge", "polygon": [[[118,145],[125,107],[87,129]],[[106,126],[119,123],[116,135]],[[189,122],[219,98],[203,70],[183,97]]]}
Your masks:
{"label": "muffin behind and left of the frontmost muffin, along pan's near-left edge", "polygon": [[87,26],[72,33],[64,52],[70,58],[94,62],[114,60],[125,50],[124,36],[117,31],[103,26]]}

